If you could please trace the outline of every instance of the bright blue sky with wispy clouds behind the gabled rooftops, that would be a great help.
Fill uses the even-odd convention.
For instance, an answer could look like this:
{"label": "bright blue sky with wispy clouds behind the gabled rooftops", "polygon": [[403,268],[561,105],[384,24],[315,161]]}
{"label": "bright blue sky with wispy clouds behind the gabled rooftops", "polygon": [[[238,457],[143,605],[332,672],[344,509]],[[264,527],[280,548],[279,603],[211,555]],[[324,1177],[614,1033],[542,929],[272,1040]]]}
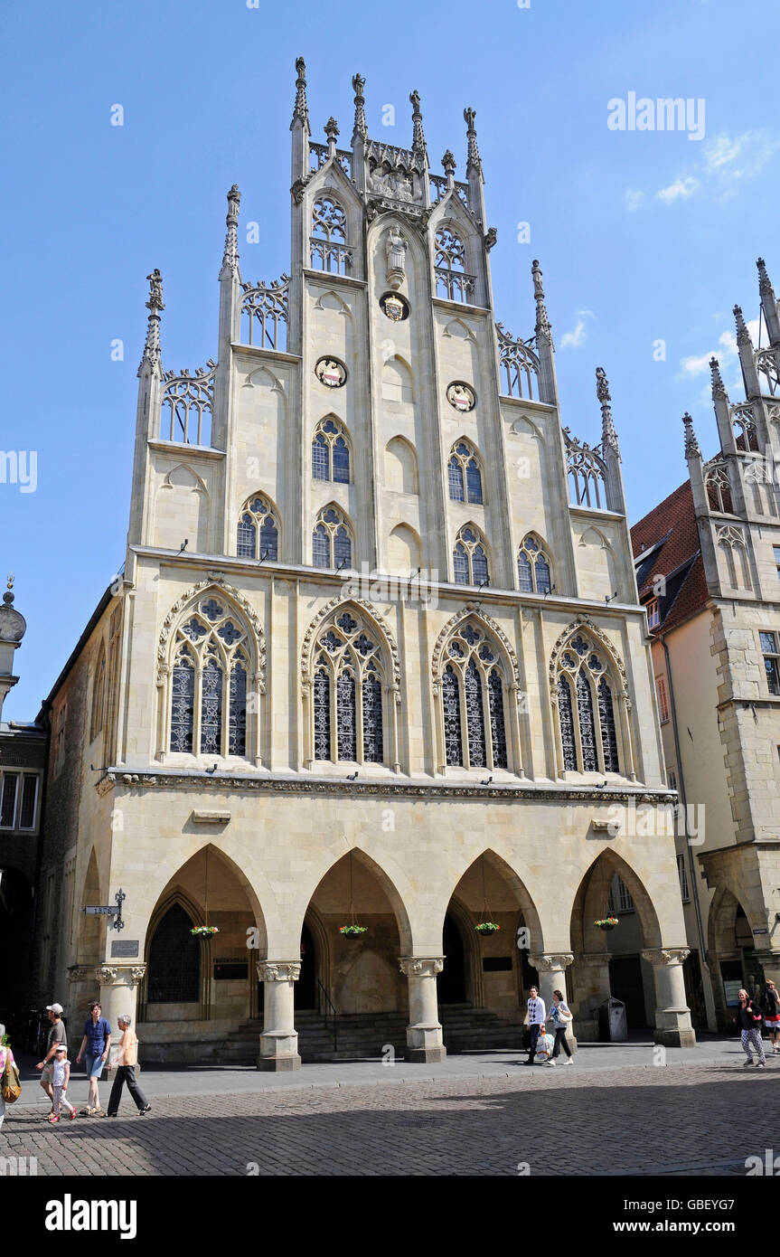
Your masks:
{"label": "bright blue sky with wispy clouds behind the gabled rooftops", "polygon": [[[496,316],[533,333],[541,261],[563,421],[600,436],[603,366],[633,520],[686,475],[682,412],[715,449],[706,358],[737,396],[731,307],[759,312],[755,260],[780,292],[780,133],[766,47],[776,4],[744,0],[246,0],[74,3],[6,10],[0,205],[5,406],[0,445],[38,451],[38,486],[0,484],[0,567],[28,635],[5,719],[31,719],[124,557],[146,275],[165,282],[163,366],[216,356],[225,194],[242,192],[245,279],[289,264],[294,60],[308,65],[314,138],[352,133],[350,78],[369,132],[411,141],[422,97],[433,171],[465,177],[463,106],[477,111]],[[705,137],[612,131],[608,102],[705,101]],[[122,104],[124,124],[111,126]],[[382,126],[386,104],[396,127]],[[530,224],[530,243],[517,224]],[[124,360],[112,361],[112,341]],[[666,361],[653,357],[666,342]]]}

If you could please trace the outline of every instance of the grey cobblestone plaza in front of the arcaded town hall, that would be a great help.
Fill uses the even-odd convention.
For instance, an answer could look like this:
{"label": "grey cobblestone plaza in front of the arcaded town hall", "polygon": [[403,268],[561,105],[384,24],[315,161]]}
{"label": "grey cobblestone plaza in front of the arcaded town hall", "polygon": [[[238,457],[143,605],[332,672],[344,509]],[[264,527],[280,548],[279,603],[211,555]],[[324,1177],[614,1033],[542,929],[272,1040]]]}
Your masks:
{"label": "grey cobblestone plaza in front of the arcaded town hall", "polygon": [[[669,1051],[666,1065],[651,1043],[583,1045],[571,1067],[521,1060],[149,1068],[151,1114],[126,1092],[116,1120],[57,1126],[28,1066],[0,1155],[35,1156],[39,1175],[685,1177],[745,1175],[747,1156],[780,1151],[780,1057],[749,1071],[736,1040]],[[70,1097],[85,1096],[77,1076]]]}

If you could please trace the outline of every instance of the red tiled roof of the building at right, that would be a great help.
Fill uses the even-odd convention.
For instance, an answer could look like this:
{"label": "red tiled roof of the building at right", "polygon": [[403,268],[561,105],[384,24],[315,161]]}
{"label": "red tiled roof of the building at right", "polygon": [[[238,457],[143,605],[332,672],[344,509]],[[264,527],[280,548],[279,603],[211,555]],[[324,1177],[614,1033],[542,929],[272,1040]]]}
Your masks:
{"label": "red tiled roof of the building at right", "polygon": [[681,577],[677,590],[673,588],[676,582],[669,582],[669,603],[664,607],[663,598],[661,600],[663,618],[651,632],[666,634],[703,610],[708,592],[690,480],[639,519],[631,529],[631,539],[634,558],[639,557],[643,548],[652,549],[657,542],[663,542],[654,552],[651,569],[639,587],[639,602],[647,602],[652,595],[657,574],[666,576],[667,581],[673,573],[680,573]]}

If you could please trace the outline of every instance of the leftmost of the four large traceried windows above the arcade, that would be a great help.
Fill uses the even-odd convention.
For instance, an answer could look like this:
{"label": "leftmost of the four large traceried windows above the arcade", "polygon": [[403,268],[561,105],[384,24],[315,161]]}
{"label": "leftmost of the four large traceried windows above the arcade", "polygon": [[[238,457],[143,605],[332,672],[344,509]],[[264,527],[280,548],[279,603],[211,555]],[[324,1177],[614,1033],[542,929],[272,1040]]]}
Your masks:
{"label": "leftmost of the four large traceried windows above the arcade", "polygon": [[172,752],[246,755],[249,649],[244,623],[219,591],[185,616],[171,670]]}

